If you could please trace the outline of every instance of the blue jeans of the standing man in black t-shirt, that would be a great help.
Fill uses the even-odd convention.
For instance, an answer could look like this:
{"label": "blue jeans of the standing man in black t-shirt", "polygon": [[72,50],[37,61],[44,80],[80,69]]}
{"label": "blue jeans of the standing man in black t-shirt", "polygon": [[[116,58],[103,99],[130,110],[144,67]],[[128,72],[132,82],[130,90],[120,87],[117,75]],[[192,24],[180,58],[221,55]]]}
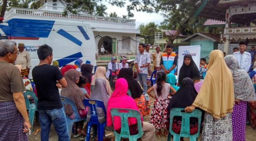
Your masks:
{"label": "blue jeans of the standing man in black t-shirt", "polygon": [[59,141],[69,141],[68,124],[64,108],[53,110],[38,110],[41,124],[41,141],[49,141],[51,123],[58,134]]}

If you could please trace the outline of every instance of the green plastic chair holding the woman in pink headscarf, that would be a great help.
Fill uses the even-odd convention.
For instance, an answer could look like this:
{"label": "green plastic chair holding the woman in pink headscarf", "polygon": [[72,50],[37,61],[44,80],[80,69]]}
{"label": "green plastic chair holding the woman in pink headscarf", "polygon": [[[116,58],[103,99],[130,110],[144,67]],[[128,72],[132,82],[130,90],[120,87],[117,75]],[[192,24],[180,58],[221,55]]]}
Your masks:
{"label": "green plastic chair holding the woman in pink headscarf", "polygon": [[[121,133],[114,131],[116,136],[115,141],[121,141],[121,138],[129,138],[129,141],[137,141],[138,138],[141,138],[144,132],[142,131],[142,124],[140,113],[137,110],[124,109],[124,108],[112,108],[111,109],[111,118],[114,119],[114,116],[119,116],[121,118]],[[130,130],[128,126],[128,117],[136,118],[138,123],[138,134],[130,135]],[[114,125],[114,120],[113,125]]]}

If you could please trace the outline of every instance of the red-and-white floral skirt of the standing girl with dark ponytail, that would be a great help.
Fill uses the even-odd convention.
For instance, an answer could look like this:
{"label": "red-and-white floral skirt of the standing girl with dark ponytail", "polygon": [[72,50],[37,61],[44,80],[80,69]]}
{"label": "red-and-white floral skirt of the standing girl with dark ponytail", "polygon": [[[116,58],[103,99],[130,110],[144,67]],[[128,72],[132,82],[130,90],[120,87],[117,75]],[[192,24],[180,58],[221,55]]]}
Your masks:
{"label": "red-and-white floral skirt of the standing girl with dark ponytail", "polygon": [[150,122],[156,129],[168,130],[169,121],[167,119],[168,111],[167,106],[169,104],[168,99],[156,99],[154,102],[154,108],[151,113]]}

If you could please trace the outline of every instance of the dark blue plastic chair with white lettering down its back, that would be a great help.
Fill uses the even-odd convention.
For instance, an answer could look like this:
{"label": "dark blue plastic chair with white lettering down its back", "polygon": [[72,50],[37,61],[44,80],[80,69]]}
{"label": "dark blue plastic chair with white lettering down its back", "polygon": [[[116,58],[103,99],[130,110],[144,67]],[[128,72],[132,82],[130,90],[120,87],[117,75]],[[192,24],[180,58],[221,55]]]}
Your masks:
{"label": "dark blue plastic chair with white lettering down its back", "polygon": [[[89,100],[89,99],[84,99],[84,106],[89,106],[90,110],[91,110],[91,120],[88,121],[87,123],[87,134],[86,134],[86,140],[85,141],[89,141],[90,140],[90,133],[91,133],[91,128],[93,125],[97,125],[97,133],[98,133],[98,141],[103,141],[103,136],[104,136],[104,132],[105,132],[105,126],[107,124],[107,122],[103,122],[103,123],[99,123],[98,121],[98,115],[97,115],[97,111],[96,111],[96,107],[98,108],[102,108],[105,114],[105,118],[107,115],[104,103],[102,101],[97,101],[97,100]],[[94,135],[96,136],[97,133],[95,133],[95,129],[94,129]],[[95,137],[94,136],[94,137]]]}

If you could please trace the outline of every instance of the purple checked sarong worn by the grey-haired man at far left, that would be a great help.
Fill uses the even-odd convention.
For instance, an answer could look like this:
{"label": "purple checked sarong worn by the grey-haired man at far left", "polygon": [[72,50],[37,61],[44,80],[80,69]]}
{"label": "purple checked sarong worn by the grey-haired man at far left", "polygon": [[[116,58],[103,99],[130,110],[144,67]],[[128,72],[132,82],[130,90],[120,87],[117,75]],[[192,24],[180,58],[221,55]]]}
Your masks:
{"label": "purple checked sarong worn by the grey-haired man at far left", "polygon": [[13,101],[0,102],[0,141],[28,141],[24,118]]}

